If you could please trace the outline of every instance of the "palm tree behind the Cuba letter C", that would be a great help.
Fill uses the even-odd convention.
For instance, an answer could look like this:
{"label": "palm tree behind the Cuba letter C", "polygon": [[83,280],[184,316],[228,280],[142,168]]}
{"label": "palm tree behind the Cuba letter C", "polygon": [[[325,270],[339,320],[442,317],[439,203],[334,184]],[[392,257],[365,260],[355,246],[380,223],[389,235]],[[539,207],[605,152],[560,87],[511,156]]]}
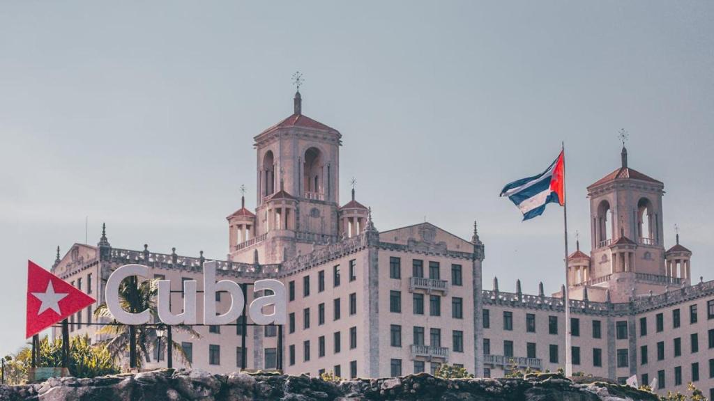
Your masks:
{"label": "palm tree behind the Cuba letter C", "polygon": [[[157,280],[145,280],[137,284],[136,277],[131,277],[124,280],[119,285],[119,305],[121,308],[130,313],[138,313],[141,310],[149,310],[154,320],[157,320],[156,312],[156,293],[158,290]],[[121,357],[122,353],[129,348],[129,366],[141,367],[143,361],[151,362],[149,344],[156,346],[156,327],[149,325],[123,325],[118,323],[114,316],[109,312],[106,303],[99,305],[94,311],[96,318],[109,318],[111,323],[99,329],[97,333],[111,335],[111,340],[106,342],[106,349],[115,359]],[[191,326],[175,325],[171,326],[172,330],[179,330],[184,333],[191,334],[191,337],[201,337]],[[191,366],[191,362],[186,357],[183,347],[176,341],[171,341],[171,347],[176,351],[176,355],[181,358],[181,362]],[[138,345],[138,349],[137,349]],[[132,355],[133,354],[133,355]],[[134,360],[131,360],[131,357]]]}

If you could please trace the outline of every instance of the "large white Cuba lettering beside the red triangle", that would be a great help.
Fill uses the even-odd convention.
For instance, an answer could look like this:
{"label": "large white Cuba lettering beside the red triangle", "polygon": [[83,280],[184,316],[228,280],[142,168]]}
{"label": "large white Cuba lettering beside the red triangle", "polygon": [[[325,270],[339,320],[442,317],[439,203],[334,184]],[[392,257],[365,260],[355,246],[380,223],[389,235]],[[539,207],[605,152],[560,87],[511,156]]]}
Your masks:
{"label": "large white Cuba lettering beside the red triangle", "polygon": [[[149,268],[144,265],[124,265],[114,270],[106,281],[106,306],[111,315],[119,323],[125,325],[144,325],[151,320],[151,312],[142,310],[139,313],[129,313],[121,308],[119,303],[119,285],[125,278],[133,275],[149,278]],[[171,296],[171,280],[158,281],[158,297],[156,308],[159,320],[166,325],[194,325],[196,319],[196,280],[183,281],[183,312],[171,312],[169,299]],[[278,280],[258,280],[253,283],[253,293],[263,290],[272,292],[251,302],[248,315],[258,325],[284,325],[286,323],[286,290],[285,285]],[[225,292],[231,296],[231,307],[226,313],[216,314],[216,293]],[[231,280],[216,282],[216,262],[203,263],[203,324],[226,325],[238,319],[243,313],[246,300],[238,283]],[[263,313],[263,308],[273,306],[273,313]]]}

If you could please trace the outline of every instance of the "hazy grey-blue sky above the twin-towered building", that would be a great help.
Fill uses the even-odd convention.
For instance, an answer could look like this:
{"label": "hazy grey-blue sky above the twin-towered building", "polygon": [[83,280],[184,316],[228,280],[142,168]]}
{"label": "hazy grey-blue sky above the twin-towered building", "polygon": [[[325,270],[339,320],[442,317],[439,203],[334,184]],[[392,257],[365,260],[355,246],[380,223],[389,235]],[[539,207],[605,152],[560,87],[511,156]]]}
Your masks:
{"label": "hazy grey-blue sky above the twin-towered building", "polygon": [[[380,230],[426,219],[486,243],[484,283],[547,293],[562,210],[521,222],[501,187],[565,141],[570,231],[620,163],[665,183],[692,274],[713,279],[710,1],[122,1],[0,4],[0,354],[24,343],[26,260],[111,245],[225,258],[253,136],[292,112],[337,128]],[[574,245],[574,244],[573,244]]]}

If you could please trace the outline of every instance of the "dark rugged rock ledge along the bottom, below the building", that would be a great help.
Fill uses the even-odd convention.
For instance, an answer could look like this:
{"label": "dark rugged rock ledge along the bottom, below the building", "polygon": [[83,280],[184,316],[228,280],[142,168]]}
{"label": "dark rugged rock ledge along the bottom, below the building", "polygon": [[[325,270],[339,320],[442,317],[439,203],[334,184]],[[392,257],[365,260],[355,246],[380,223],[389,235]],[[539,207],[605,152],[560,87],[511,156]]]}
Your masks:
{"label": "dark rugged rock ledge along the bottom, below the building", "polygon": [[452,379],[427,374],[325,382],[268,372],[211,375],[200,370],[154,370],[93,379],[52,378],[33,385],[0,386],[0,400],[171,401],[656,401],[656,395],[604,382],[576,384],[557,374],[525,379]]}

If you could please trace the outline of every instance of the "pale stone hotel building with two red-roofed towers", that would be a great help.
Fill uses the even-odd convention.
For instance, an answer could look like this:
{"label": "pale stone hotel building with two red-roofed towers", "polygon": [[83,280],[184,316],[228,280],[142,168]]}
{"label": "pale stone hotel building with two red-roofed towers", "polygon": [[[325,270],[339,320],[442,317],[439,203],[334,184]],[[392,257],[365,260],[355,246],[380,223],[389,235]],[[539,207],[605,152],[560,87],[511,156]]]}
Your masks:
{"label": "pale stone hotel building with two red-roofed towers", "polygon": [[[254,138],[256,208],[228,215],[228,254],[218,279],[286,285],[288,323],[203,326],[193,338],[174,329],[193,367],[213,372],[275,369],[290,374],[386,377],[433,372],[441,363],[476,375],[514,367],[556,370],[565,360],[562,291],[553,296],[502,293],[481,285],[484,246],[431,223],[379,231],[371,210],[339,200],[341,133],[304,116],[296,93],[291,116]],[[590,255],[568,258],[573,370],[616,380],[638,375],[660,390],[687,382],[714,388],[714,281],[692,285],[691,252],[663,240],[663,183],[623,166],[588,187]],[[613,217],[614,216],[614,217]],[[198,258],[114,248],[103,231],[96,246],[74,244],[53,272],[98,300],[121,265],[149,266],[171,279],[171,310],[183,307],[182,280],[202,288]],[[216,295],[218,312],[231,300]],[[220,298],[220,299],[219,299]],[[96,333],[91,311],[71,318],[72,335]],[[202,299],[198,297],[198,321]],[[54,333],[54,335],[59,335]],[[278,340],[279,337],[279,340]],[[696,345],[694,345],[696,344]],[[165,343],[145,367],[164,366]],[[183,362],[174,357],[176,366]],[[282,365],[281,365],[282,362]],[[714,391],[714,390],[712,390]]]}

